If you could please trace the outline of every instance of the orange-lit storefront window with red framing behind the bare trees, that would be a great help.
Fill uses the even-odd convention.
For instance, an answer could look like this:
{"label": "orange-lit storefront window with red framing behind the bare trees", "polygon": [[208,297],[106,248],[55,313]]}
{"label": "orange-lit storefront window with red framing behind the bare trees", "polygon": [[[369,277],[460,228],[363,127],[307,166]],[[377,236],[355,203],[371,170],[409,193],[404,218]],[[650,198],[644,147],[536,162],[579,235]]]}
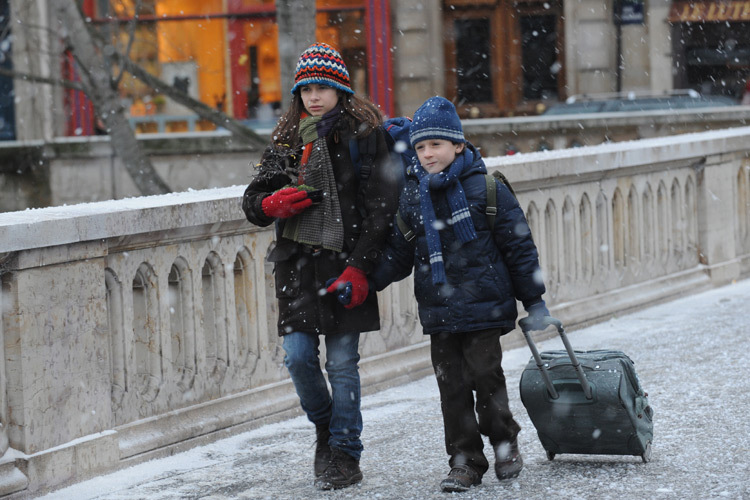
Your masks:
{"label": "orange-lit storefront window with red framing behind the bare trees", "polygon": [[[341,52],[355,92],[366,94],[364,2],[318,0],[317,9],[317,40]],[[87,12],[123,52],[133,32],[128,21],[136,14],[128,54],[137,64],[251,125],[275,123],[288,90],[281,88],[273,0],[96,0],[95,12]],[[131,75],[121,80],[119,91],[139,132],[215,128]]]}

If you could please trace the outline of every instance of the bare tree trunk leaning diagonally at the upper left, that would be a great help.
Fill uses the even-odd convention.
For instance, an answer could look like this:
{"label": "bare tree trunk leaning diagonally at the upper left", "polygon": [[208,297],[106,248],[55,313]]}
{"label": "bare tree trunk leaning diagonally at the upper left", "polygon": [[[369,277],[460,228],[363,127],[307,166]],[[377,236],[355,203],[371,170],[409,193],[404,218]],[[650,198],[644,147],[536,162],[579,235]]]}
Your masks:
{"label": "bare tree trunk leaning diagonally at the upper left", "polygon": [[89,25],[84,22],[75,0],[56,0],[52,5],[57,14],[59,32],[70,45],[88,87],[86,94],[94,104],[97,117],[107,127],[112,147],[136,187],[143,195],[170,192],[140,148],[120,96],[112,85],[111,72],[102,53],[114,51],[114,47],[103,44],[99,47],[101,50],[97,50]]}

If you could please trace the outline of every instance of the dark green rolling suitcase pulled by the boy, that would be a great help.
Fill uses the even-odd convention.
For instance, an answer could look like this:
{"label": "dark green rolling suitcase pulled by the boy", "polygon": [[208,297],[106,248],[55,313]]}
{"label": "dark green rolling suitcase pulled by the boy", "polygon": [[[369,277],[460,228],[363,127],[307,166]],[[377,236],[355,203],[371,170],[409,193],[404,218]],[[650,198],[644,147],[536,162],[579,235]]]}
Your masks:
{"label": "dark green rolling suitcase pulled by the boy", "polygon": [[574,351],[562,323],[564,351],[539,353],[520,321],[532,358],[521,375],[521,401],[553,460],[561,453],[651,459],[653,410],[632,360],[622,351]]}

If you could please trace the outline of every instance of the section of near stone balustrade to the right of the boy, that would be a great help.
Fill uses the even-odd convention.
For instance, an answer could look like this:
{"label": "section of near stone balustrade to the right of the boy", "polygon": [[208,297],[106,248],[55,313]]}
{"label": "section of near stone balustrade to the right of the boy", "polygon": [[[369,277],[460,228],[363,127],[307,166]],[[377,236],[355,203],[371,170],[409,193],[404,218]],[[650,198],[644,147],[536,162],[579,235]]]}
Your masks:
{"label": "section of near stone balustrade to the right of the boy", "polygon": [[594,321],[747,274],[747,130],[488,159],[513,182],[558,314]]}

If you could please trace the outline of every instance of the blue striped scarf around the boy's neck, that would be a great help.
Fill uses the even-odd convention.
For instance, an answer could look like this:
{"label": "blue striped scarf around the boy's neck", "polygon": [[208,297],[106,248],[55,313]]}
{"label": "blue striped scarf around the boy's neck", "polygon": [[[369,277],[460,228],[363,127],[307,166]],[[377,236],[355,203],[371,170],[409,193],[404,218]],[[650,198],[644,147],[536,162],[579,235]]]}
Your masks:
{"label": "blue striped scarf around the boy's neck", "polygon": [[472,152],[469,149],[464,149],[463,153],[456,156],[450,167],[437,174],[427,173],[419,163],[416,163],[412,168],[412,172],[419,179],[419,203],[424,222],[425,238],[427,239],[427,250],[430,253],[432,283],[435,285],[445,283],[445,265],[440,244],[441,227],[436,224],[437,220],[435,209],[432,206],[430,190],[445,191],[448,206],[451,209],[451,219],[448,224],[453,226],[453,232],[459,241],[467,243],[476,239],[477,233],[474,230],[474,223],[471,221],[469,203],[466,201],[463,186],[458,180],[464,169],[471,167],[473,159]]}

